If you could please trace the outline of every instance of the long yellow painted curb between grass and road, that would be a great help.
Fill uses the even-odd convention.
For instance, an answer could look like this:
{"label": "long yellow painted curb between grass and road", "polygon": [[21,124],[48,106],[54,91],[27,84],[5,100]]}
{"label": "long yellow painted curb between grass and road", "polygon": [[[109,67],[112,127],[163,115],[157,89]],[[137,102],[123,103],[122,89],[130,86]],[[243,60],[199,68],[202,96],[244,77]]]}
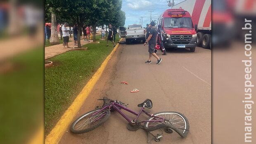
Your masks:
{"label": "long yellow painted curb between grass and road", "polygon": [[[122,40],[121,38],[119,42]],[[52,129],[49,135],[45,138],[45,144],[58,144],[59,140],[61,139],[64,132],[66,132],[66,129],[68,128],[68,125],[72,122],[74,116],[78,113],[78,110],[81,108],[83,103],[85,102],[85,99],[88,97],[90,92],[92,91],[94,85],[99,80],[100,76],[102,75],[104,69],[107,66],[107,63],[109,59],[112,57],[114,52],[116,51],[117,47],[119,46],[119,43],[116,45],[114,50],[107,56],[107,58],[103,61],[100,68],[97,70],[97,72],[92,76],[92,78],[89,80],[89,82],[85,85],[83,90],[78,94],[76,99],[73,101],[71,106],[65,111],[65,113],[62,115],[58,123],[55,125],[55,127]]]}

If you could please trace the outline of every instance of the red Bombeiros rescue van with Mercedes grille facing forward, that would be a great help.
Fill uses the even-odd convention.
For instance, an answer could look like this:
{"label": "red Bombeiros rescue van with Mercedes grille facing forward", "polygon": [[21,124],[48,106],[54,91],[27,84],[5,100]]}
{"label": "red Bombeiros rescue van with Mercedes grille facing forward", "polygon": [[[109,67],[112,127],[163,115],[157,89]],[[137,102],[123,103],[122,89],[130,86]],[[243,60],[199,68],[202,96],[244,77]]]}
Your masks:
{"label": "red Bombeiros rescue van with Mercedes grille facing forward", "polygon": [[161,24],[168,35],[166,48],[190,49],[197,46],[197,25],[193,25],[190,13],[184,9],[167,9],[160,15],[157,26]]}

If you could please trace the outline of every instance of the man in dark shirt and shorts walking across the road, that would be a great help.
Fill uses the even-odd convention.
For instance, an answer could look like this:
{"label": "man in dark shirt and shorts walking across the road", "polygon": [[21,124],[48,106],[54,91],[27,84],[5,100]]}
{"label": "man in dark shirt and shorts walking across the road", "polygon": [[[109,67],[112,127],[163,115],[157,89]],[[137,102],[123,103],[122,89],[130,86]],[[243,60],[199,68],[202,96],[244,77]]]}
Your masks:
{"label": "man in dark shirt and shorts walking across the road", "polygon": [[160,64],[162,59],[159,58],[156,53],[154,52],[155,46],[156,46],[156,38],[157,38],[157,31],[156,31],[156,24],[154,21],[151,21],[150,25],[152,26],[151,30],[149,31],[149,37],[147,38],[146,42],[144,43],[144,46],[147,45],[147,42],[149,43],[149,59],[145,62],[146,64],[151,64],[151,58],[152,55],[157,59],[156,64]]}

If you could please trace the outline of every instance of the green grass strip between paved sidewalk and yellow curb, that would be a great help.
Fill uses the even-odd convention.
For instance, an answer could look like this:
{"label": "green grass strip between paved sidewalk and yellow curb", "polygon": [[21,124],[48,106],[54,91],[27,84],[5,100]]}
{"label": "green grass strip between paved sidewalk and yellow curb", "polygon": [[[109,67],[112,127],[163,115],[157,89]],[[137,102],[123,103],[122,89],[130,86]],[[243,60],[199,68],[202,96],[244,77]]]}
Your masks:
{"label": "green grass strip between paved sidewalk and yellow curb", "polygon": [[[55,126],[64,111],[113,50],[106,40],[85,45],[88,50],[69,51],[49,60],[55,66],[45,68],[45,134]],[[116,36],[116,42],[119,36]]]}

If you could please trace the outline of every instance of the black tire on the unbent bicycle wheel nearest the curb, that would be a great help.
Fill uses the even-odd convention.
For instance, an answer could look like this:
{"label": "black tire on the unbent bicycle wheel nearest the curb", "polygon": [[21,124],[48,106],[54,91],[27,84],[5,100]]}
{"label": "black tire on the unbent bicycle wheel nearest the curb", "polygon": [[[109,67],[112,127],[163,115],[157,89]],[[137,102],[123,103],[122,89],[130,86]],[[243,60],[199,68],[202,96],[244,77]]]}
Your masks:
{"label": "black tire on the unbent bicycle wheel nearest the curb", "polygon": [[70,126],[70,131],[72,132],[72,133],[74,133],[74,134],[82,134],[82,133],[85,133],[85,132],[90,132],[91,130],[94,130],[95,128],[97,128],[97,127],[99,127],[100,125],[102,125],[102,123],[104,123],[108,118],[109,118],[109,116],[110,116],[110,111],[109,111],[109,109],[104,109],[103,111],[106,111],[106,116],[104,116],[104,118],[102,118],[102,119],[100,119],[100,120],[97,120],[97,123],[95,124],[95,125],[92,125],[91,127],[89,127],[89,128],[86,128],[86,129],[83,129],[83,130],[76,130],[75,129],[75,126],[76,126],[76,124],[80,121],[80,120],[82,120],[84,117],[86,117],[86,116],[88,116],[88,115],[90,115],[90,114],[92,114],[92,113],[94,113],[94,112],[96,112],[96,111],[99,111],[100,110],[100,108],[98,108],[98,109],[94,109],[94,110],[92,110],[92,111],[89,111],[89,112],[87,112],[87,113],[85,113],[85,114],[83,114],[82,116],[80,116],[79,118],[77,118],[75,121],[73,121],[73,123],[71,124],[71,126]]}

